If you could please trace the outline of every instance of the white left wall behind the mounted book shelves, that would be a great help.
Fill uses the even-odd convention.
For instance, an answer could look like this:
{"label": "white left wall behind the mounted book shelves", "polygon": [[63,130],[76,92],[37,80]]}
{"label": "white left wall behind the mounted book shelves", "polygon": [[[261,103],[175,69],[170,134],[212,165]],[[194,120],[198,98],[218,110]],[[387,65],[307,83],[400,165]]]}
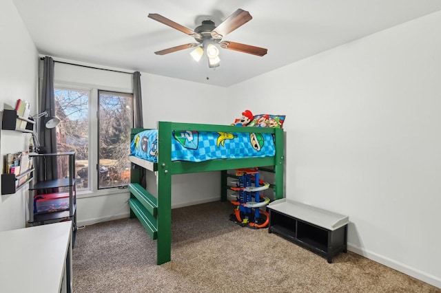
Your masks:
{"label": "white left wall behind the mounted book shelves", "polygon": [[[18,98],[31,103],[31,111],[37,107],[37,49],[23,25],[11,0],[0,1],[0,102],[15,107]],[[3,156],[28,149],[28,134],[1,131],[1,169]],[[0,196],[0,231],[25,226],[25,199],[28,188],[12,195]]]}

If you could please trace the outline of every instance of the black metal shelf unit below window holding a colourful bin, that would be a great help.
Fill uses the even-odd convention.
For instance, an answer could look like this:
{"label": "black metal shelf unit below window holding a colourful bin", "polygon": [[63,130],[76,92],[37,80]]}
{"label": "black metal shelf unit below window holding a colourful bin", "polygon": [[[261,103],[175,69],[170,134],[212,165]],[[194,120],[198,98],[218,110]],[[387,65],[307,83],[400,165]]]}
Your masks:
{"label": "black metal shelf unit below window holding a colourful bin", "polygon": [[[28,223],[31,226],[51,224],[59,221],[70,220],[72,221],[72,243],[76,238],[76,180],[75,180],[75,152],[65,153],[43,153],[34,154],[32,158],[34,164],[44,164],[45,158],[52,157],[57,160],[59,156],[68,157],[68,177],[63,177],[54,180],[38,181],[37,176],[34,176],[34,180],[30,182],[29,186],[29,213],[30,219]],[[46,213],[36,213],[34,210],[34,197],[41,196],[45,193],[52,193],[53,188],[64,190],[63,192],[69,193],[69,208],[66,210],[48,211]],[[61,191],[59,191],[61,192]],[[42,193],[42,194],[41,194]]]}

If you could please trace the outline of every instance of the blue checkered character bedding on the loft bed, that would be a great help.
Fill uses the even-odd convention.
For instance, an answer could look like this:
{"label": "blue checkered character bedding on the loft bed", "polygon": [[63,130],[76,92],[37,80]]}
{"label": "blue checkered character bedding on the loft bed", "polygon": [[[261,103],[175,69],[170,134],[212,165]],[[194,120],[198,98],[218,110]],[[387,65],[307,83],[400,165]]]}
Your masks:
{"label": "blue checkered character bedding on the loft bed", "polygon": [[[276,153],[271,133],[179,131],[172,137],[172,161],[261,158]],[[158,162],[158,131],[151,129],[137,133],[130,151],[130,155]]]}

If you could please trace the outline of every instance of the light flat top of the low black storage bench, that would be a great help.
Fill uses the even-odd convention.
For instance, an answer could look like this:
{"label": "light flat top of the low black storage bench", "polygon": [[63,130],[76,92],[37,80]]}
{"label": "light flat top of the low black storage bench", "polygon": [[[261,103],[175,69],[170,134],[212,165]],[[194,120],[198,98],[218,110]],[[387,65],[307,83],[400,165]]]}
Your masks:
{"label": "light flat top of the low black storage bench", "polygon": [[348,216],[286,198],[271,202],[268,208],[331,231],[349,224]]}

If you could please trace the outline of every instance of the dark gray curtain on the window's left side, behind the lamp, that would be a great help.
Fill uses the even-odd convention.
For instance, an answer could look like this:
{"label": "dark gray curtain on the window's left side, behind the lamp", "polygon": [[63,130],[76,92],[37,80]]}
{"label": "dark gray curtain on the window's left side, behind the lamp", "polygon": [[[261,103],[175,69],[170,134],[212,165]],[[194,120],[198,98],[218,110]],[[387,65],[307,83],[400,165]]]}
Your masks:
{"label": "dark gray curtain on the window's left side, behind the lamp", "polygon": [[[39,113],[48,111],[49,116],[55,116],[55,96],[54,96],[54,60],[52,57],[45,56],[43,60],[43,80],[41,84]],[[45,127],[45,118],[39,119],[37,135],[44,153],[57,152],[57,131]],[[38,158],[37,175],[38,180],[52,180],[58,178],[57,157],[46,156]]]}

